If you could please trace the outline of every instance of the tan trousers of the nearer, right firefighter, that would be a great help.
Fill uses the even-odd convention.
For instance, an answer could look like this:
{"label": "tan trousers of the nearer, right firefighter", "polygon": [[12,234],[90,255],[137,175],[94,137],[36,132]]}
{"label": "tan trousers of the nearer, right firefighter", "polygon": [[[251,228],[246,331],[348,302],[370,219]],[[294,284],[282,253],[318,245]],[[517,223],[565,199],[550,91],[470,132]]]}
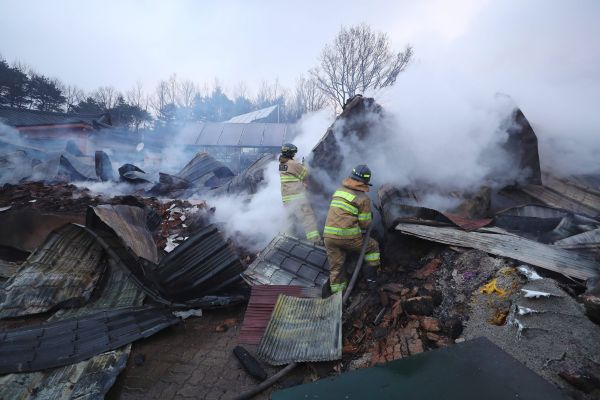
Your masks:
{"label": "tan trousers of the nearer, right firefighter", "polygon": [[[325,238],[325,248],[327,249],[327,260],[329,261],[329,282],[331,292],[336,293],[345,290],[348,287],[350,271],[346,271],[344,263],[348,253],[360,253],[363,245],[363,238]],[[379,243],[373,238],[369,238],[367,250],[364,257],[364,268],[373,268],[371,271],[363,270],[365,275],[373,276],[380,264]]]}

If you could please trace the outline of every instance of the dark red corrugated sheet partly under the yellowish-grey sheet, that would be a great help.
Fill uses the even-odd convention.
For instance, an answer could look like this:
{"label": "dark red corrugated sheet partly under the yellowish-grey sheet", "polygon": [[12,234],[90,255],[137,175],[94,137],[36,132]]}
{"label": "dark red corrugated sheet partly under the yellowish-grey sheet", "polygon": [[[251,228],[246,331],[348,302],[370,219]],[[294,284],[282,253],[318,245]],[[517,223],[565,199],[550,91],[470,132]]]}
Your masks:
{"label": "dark red corrugated sheet partly under the yellowish-grey sheet", "polygon": [[320,290],[315,288],[284,285],[252,286],[248,307],[244,313],[244,322],[238,336],[239,343],[260,343],[280,294],[304,298],[321,297]]}

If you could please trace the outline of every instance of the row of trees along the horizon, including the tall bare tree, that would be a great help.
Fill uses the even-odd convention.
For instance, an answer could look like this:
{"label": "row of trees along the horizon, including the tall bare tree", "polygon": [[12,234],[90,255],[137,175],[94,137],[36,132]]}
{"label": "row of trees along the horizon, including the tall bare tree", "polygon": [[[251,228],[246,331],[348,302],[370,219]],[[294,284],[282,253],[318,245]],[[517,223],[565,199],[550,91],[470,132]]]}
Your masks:
{"label": "row of trees along the horizon, including the tall bare tree", "polygon": [[185,121],[226,121],[233,116],[279,106],[280,122],[294,122],[304,113],[324,107],[341,108],[348,98],[392,85],[410,63],[413,49],[393,51],[388,36],[361,24],[342,27],[319,56],[318,65],[300,76],[295,87],[278,80],[262,82],[251,96],[244,83],[231,94],[215,81],[212,87],[175,74],[144,91],[141,82],[121,92],[102,86],[85,93],[73,85],[0,57],[0,105],[77,114],[109,113],[113,125],[164,128]]}

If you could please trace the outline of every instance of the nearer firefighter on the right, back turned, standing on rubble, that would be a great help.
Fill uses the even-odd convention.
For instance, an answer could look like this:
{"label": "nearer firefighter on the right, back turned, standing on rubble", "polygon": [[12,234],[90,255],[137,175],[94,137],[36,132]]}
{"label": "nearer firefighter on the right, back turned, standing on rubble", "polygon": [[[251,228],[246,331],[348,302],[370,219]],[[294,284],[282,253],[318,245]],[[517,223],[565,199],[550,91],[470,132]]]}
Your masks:
{"label": "nearer firefighter on the right, back turned, standing on rubble", "polygon": [[[366,165],[358,165],[352,174],[344,179],[331,199],[323,236],[327,259],[331,292],[343,291],[348,286],[349,273],[344,268],[348,253],[359,253],[363,245],[362,232],[371,224],[371,199],[369,191],[371,170]],[[379,243],[369,238],[364,256],[362,272],[370,289],[376,286],[379,269]]]}

